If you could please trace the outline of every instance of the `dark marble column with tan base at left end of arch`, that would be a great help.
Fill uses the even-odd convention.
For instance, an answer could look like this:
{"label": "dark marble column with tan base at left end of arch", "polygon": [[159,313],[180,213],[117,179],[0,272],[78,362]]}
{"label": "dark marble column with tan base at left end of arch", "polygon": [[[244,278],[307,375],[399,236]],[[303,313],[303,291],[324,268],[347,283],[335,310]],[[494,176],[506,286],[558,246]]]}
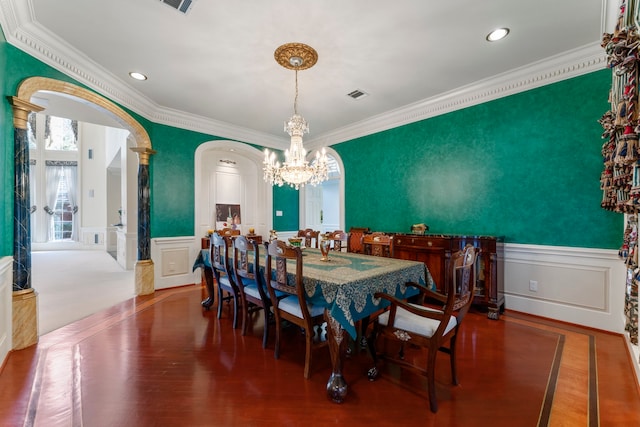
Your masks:
{"label": "dark marble column with tan base at left end of arch", "polygon": [[37,294],[31,287],[31,201],[29,197],[30,112],[43,108],[16,97],[13,107],[14,200],[13,200],[13,298],[12,347],[19,350],[38,342]]}

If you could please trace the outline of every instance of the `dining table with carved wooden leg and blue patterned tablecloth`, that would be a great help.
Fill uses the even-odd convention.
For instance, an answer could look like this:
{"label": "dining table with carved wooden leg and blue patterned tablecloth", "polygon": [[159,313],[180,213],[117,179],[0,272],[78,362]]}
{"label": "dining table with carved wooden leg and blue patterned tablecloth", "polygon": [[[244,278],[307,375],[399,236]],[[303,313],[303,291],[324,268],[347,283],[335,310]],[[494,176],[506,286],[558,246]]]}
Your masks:
{"label": "dining table with carved wooden leg and blue patterned tablecloth", "polygon": [[[302,248],[303,284],[311,304],[325,309],[326,339],[331,354],[332,372],[327,382],[327,396],[333,402],[343,402],[348,385],[342,374],[346,343],[350,336],[358,337],[356,324],[388,305],[377,292],[406,299],[417,294],[408,283],[419,283],[435,289],[425,264],[420,261],[330,251],[323,257],[319,249]],[[208,265],[208,266],[207,266]],[[208,307],[213,302],[213,278],[208,250],[203,249],[193,269],[203,267],[209,297],[202,302]],[[288,269],[291,280],[295,269]]]}

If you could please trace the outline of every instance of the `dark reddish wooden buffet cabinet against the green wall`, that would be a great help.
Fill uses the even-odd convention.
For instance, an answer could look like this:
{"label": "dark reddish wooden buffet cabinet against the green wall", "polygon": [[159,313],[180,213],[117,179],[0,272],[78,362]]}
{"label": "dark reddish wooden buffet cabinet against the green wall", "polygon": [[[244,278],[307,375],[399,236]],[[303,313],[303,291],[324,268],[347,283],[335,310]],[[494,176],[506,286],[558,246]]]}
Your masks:
{"label": "dark reddish wooden buffet cabinet against the green wall", "polygon": [[[445,234],[395,234],[393,257],[425,263],[436,287],[448,279],[451,254],[467,243],[480,248],[473,304],[488,310],[487,316],[497,320],[504,311],[504,256],[501,237],[458,236]],[[499,244],[500,243],[500,244]]]}

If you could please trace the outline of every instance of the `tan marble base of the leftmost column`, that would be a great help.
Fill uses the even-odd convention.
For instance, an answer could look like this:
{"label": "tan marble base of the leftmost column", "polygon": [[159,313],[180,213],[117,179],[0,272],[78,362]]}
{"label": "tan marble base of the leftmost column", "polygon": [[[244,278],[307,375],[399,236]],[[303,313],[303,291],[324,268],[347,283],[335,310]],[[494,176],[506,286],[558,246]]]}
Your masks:
{"label": "tan marble base of the leftmost column", "polygon": [[38,304],[36,291],[24,289],[13,292],[12,347],[20,350],[38,342]]}

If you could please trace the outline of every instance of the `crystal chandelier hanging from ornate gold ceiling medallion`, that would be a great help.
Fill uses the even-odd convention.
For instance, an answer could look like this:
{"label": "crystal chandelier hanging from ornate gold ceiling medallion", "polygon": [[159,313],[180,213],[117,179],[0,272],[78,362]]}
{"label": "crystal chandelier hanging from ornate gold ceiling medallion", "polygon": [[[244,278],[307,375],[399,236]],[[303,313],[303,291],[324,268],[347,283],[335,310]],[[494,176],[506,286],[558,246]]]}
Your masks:
{"label": "crystal chandelier hanging from ornate gold ceiling medallion", "polygon": [[291,136],[291,145],[284,152],[284,163],[276,159],[276,153],[264,151],[264,180],[271,185],[289,184],[295,189],[309,183],[316,185],[328,178],[327,154],[325,149],[316,152],[315,160],[309,164],[307,151],[302,145],[302,135],[309,133],[309,123],[298,114],[298,71],[311,68],[318,61],[318,53],[311,46],[302,43],[287,43],[276,49],[274,57],[278,64],[296,73],[296,92],[293,101],[293,116],[284,122],[284,131]]}

